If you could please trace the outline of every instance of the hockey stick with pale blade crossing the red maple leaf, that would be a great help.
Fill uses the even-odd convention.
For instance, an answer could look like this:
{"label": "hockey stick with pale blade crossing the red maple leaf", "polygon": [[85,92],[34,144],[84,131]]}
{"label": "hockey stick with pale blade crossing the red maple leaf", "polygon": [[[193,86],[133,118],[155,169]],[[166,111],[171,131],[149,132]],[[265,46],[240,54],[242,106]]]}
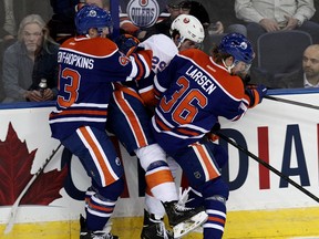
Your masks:
{"label": "hockey stick with pale blade crossing the red maple leaf", "polygon": [[44,168],[47,167],[47,165],[50,163],[50,160],[54,157],[54,155],[56,154],[56,152],[60,149],[60,147],[62,146],[62,144],[60,144],[56,149],[52,150],[52,154],[50,155],[49,158],[45,159],[45,162],[43,163],[43,165],[39,168],[39,170],[33,175],[33,177],[30,179],[30,181],[27,184],[27,186],[23,188],[23,190],[20,193],[19,197],[16,199],[14,204],[12,205],[10,215],[9,215],[9,220],[7,224],[7,227],[4,229],[4,233],[9,233],[12,228],[13,228],[13,224],[14,224],[14,219],[18,212],[18,206],[21,201],[21,199],[23,198],[23,196],[27,194],[27,191],[29,190],[29,188],[32,186],[32,184],[34,183],[34,180],[38,178],[38,176],[40,174],[42,174],[42,172],[44,170]]}

